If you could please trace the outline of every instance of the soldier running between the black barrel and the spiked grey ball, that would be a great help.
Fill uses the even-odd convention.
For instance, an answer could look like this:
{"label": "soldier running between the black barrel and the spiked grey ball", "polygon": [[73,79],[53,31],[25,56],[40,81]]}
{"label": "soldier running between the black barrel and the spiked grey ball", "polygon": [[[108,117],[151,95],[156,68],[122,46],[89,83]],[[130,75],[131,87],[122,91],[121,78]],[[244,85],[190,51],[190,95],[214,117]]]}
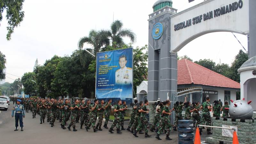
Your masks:
{"label": "soldier running between the black barrel and the spiked grey ball", "polygon": [[[210,104],[210,97],[206,97],[206,101],[203,103],[203,105],[200,107],[202,109],[202,117],[201,117],[201,123],[200,125],[204,125],[206,122],[206,125],[211,125],[211,115],[210,115],[210,109],[212,109]],[[200,135],[202,134],[202,127],[199,128]],[[207,134],[212,134],[211,128],[207,127]]]}

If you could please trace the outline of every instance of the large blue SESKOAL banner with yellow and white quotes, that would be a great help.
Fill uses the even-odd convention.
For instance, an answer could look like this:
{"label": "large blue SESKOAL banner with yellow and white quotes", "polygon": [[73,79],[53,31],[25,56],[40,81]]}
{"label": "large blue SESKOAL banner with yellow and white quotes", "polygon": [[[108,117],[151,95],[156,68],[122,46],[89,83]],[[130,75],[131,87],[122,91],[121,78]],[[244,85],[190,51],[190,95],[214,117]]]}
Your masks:
{"label": "large blue SESKOAL banner with yellow and white quotes", "polygon": [[132,56],[132,48],[97,53],[97,99],[132,102]]}

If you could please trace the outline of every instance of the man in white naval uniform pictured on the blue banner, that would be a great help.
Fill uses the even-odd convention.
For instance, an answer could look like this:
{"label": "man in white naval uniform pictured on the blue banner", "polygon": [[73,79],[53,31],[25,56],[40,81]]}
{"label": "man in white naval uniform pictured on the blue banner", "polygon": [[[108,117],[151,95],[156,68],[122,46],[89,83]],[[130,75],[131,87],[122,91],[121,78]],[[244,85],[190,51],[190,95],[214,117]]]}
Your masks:
{"label": "man in white naval uniform pictured on the blue banner", "polygon": [[126,57],[120,56],[119,66],[121,68],[116,70],[116,84],[132,84],[132,68],[127,68],[126,63]]}

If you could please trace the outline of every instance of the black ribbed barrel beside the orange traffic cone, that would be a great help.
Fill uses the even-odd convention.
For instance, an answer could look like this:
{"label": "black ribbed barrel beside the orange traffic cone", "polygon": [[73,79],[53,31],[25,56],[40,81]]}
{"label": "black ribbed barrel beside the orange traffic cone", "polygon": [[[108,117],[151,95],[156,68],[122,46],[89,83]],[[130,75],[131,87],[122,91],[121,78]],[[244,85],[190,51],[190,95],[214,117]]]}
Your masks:
{"label": "black ribbed barrel beside the orange traffic cone", "polygon": [[194,144],[193,120],[178,121],[179,144]]}

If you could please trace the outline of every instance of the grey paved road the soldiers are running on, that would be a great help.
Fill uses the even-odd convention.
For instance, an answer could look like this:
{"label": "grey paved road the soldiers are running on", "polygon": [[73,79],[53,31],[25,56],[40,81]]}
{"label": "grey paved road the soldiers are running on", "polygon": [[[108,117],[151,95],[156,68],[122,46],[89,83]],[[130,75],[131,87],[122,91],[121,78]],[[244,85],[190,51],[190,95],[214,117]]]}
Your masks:
{"label": "grey paved road the soldiers are running on", "polygon": [[[1,111],[0,114],[0,141],[3,144],[76,144],[76,143],[108,143],[108,144],[167,144],[177,143],[177,132],[172,131],[170,137],[173,138],[171,141],[164,140],[165,134],[160,137],[163,140],[156,140],[155,132],[149,132],[151,138],[144,138],[144,134],[138,134],[138,138],[135,138],[130,132],[122,131],[123,134],[109,133],[107,129],[103,128],[103,131],[93,132],[92,128],[89,132],[85,129],[80,129],[80,124],[76,124],[76,132],[61,129],[60,123],[55,122],[55,126],[51,127],[49,123],[39,124],[39,115],[32,119],[32,113],[26,113],[24,121],[24,131],[13,131],[15,129],[15,120],[11,118],[11,110],[13,105],[11,104],[7,111]],[[68,122],[69,124],[69,122]],[[112,123],[108,124],[110,127]],[[125,127],[128,123],[125,122]],[[116,132],[116,130],[114,131]],[[201,137],[203,141],[205,135]]]}

